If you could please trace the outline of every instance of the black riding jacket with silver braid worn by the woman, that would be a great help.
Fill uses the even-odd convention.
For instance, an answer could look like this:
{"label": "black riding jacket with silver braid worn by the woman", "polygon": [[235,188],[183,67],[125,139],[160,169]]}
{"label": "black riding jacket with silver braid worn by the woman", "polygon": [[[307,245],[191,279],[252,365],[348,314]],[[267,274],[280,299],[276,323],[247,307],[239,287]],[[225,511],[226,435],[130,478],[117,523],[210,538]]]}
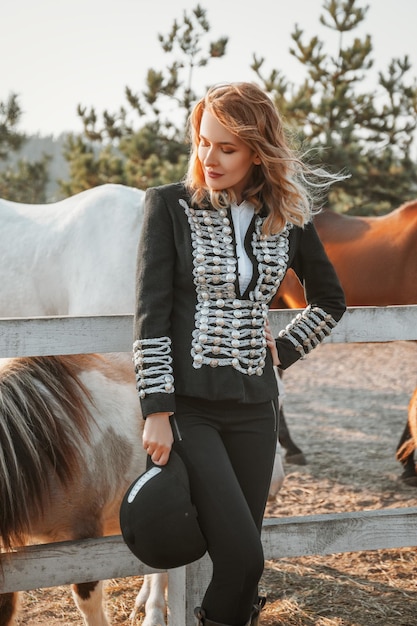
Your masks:
{"label": "black riding jacket with silver braid worn by the woman", "polygon": [[291,267],[308,302],[276,339],[282,369],[318,345],[342,317],[344,294],[314,225],[245,237],[253,276],[239,292],[230,210],[192,207],[181,183],[149,189],[138,247],[134,362],[144,417],[175,412],[175,395],[257,403],[277,396],[264,323]]}

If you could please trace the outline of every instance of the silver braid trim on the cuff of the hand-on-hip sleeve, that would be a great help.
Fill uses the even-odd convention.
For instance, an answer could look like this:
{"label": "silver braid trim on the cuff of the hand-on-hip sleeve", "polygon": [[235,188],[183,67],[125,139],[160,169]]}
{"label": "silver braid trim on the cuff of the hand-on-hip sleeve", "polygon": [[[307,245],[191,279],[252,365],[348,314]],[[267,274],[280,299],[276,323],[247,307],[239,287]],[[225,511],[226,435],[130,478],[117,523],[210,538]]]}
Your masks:
{"label": "silver braid trim on the cuff of the hand-on-hip sleeve", "polygon": [[303,357],[328,337],[335,326],[336,321],[330,313],[309,305],[281,330],[279,337],[291,341]]}

